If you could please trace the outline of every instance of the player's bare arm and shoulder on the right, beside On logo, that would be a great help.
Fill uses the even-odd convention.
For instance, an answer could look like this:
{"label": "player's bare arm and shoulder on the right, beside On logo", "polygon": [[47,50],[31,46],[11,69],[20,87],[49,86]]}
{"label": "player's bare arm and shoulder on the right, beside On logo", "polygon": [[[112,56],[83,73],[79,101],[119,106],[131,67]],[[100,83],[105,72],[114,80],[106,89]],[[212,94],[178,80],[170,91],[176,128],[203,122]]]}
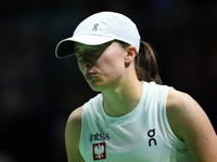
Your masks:
{"label": "player's bare arm and shoulder on the right, beside On logo", "polygon": [[201,106],[188,94],[170,90],[166,104],[169,125],[196,162],[217,162],[217,136]]}

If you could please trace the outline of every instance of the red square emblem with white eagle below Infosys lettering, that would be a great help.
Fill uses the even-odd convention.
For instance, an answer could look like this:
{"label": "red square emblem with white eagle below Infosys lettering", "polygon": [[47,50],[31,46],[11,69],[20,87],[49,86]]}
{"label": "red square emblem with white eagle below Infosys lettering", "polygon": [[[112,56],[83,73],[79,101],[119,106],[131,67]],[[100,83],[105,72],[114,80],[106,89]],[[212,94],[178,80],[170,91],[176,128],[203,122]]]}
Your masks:
{"label": "red square emblem with white eagle below Infosys lettering", "polygon": [[93,160],[106,159],[106,147],[105,143],[98,143],[92,145]]}

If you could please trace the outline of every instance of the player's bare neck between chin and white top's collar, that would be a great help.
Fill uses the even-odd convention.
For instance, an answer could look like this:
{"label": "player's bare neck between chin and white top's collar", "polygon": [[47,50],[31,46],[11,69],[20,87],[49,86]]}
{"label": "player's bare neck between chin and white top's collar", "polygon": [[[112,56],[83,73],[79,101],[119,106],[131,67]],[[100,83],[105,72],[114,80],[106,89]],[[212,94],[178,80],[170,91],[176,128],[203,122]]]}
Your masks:
{"label": "player's bare neck between chin and white top's collar", "polygon": [[139,80],[127,82],[107,92],[102,92],[103,107],[111,117],[120,117],[131,112],[138,105],[143,83]]}

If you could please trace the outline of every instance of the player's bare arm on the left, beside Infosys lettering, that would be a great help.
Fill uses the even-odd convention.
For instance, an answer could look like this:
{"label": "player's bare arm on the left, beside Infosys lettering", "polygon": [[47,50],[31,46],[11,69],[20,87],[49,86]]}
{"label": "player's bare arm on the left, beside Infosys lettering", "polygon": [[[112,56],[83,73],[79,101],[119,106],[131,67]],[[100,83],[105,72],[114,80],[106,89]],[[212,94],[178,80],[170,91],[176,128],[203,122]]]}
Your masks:
{"label": "player's bare arm on the left, beside Infosys lettering", "polygon": [[81,132],[81,111],[82,107],[74,110],[65,127],[65,146],[68,162],[84,162],[79,151],[79,139]]}

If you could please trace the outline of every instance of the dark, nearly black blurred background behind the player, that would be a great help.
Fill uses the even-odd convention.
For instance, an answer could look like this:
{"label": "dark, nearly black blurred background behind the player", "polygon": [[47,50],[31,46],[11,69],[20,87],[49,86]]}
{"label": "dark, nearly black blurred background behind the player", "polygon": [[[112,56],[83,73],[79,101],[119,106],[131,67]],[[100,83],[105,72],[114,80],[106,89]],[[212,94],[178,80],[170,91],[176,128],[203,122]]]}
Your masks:
{"label": "dark, nearly black blurred background behind the player", "polygon": [[99,11],[129,16],[158,54],[164,84],[189,93],[217,130],[216,0],[7,0],[0,5],[0,162],[66,162],[68,114],[97,93],[55,45]]}

